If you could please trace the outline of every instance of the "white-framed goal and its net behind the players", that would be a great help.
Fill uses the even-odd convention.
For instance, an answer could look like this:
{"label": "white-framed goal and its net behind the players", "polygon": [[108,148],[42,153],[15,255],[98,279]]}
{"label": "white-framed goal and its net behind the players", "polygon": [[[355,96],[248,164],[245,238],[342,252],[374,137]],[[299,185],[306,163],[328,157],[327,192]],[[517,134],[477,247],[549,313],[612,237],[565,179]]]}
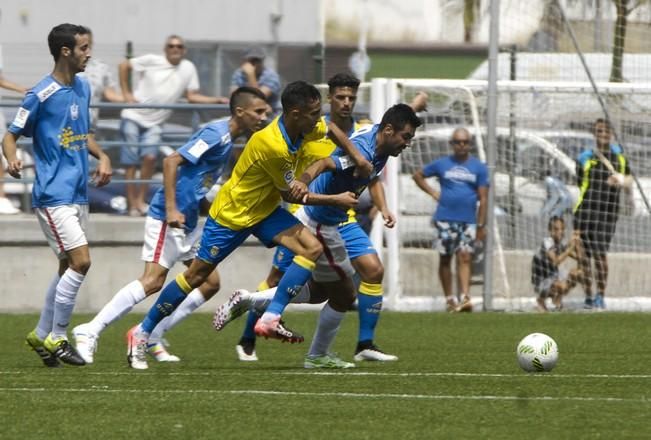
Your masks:
{"label": "white-framed goal and its net behind the players", "polygon": [[[409,102],[418,91],[429,95],[428,108],[420,115],[424,124],[411,148],[392,159],[385,173],[387,199],[398,214],[396,228],[385,230],[383,240],[385,280],[390,307],[443,310],[431,223],[436,206],[416,186],[412,175],[450,154],[448,141],[455,127],[465,127],[473,134],[473,154],[486,160],[487,83],[405,79],[374,80],[372,86],[371,108],[379,105],[377,113],[393,102]],[[651,152],[646,147],[651,136],[651,86],[600,83],[599,88],[609,103],[630,169],[643,191],[651,195]],[[473,262],[471,294],[475,302],[481,301],[484,291],[483,264],[492,259],[493,283],[487,290],[493,308],[534,307],[533,255],[548,235],[551,215],[565,218],[565,238],[571,237],[572,209],[580,195],[576,159],[595,147],[592,127],[600,117],[603,115],[589,83],[498,82],[497,147],[493,152],[495,168],[491,170],[495,206],[489,213],[494,218],[495,229],[490,233],[495,245]],[[553,194],[550,179],[564,190],[560,199]],[[436,180],[430,183],[437,186]],[[608,252],[608,308],[651,309],[651,295],[646,289],[651,273],[645,270],[651,263],[651,216],[639,188],[634,186],[630,196],[622,192],[620,199]],[[576,262],[569,259],[562,267],[569,270],[573,265]],[[580,308],[583,299],[583,289],[578,285],[565,303],[568,308]]]}

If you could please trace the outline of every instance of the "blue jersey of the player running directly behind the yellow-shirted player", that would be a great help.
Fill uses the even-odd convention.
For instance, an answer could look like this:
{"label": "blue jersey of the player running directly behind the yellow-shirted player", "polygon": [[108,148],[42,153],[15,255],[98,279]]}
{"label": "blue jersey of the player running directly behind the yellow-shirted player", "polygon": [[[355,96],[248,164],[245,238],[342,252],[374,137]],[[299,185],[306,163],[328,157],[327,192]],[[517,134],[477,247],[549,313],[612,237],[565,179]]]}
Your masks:
{"label": "blue jersey of the player running directly behind the yellow-shirted player", "polygon": [[[176,209],[185,215],[189,230],[197,226],[199,203],[224,171],[233,149],[228,119],[210,123],[177,150],[188,162],[176,176]],[[149,204],[150,217],[165,221],[165,190],[160,188]]]}

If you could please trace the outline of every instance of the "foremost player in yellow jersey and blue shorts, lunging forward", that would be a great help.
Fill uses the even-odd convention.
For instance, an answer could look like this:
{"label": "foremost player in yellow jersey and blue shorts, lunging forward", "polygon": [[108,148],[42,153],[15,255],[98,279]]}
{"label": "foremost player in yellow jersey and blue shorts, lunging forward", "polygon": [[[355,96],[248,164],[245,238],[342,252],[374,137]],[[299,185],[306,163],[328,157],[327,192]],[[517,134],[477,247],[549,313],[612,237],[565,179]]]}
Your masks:
{"label": "foremost player in yellow jersey and blue shorts, lunging forward", "polygon": [[156,325],[252,234],[265,245],[281,244],[296,255],[280,281],[278,295],[283,299],[278,301],[275,315],[259,320],[256,331],[265,337],[302,341],[302,336],[280,322],[280,314],[310,278],[323,248],[300,221],[280,207],[280,200],[355,205],[352,193],[309,194],[305,183],[294,178],[296,163],[304,154],[303,144],[323,138],[326,132],[351,153],[361,175],[370,173],[371,164],[355,150],[345,133],[322,121],[321,95],[313,85],[290,83],[281,101],[282,115],[251,136],[230,179],[212,203],[199,252],[190,267],[163,289],[143,322],[129,331],[127,359],[132,368],[148,368],[146,347]]}

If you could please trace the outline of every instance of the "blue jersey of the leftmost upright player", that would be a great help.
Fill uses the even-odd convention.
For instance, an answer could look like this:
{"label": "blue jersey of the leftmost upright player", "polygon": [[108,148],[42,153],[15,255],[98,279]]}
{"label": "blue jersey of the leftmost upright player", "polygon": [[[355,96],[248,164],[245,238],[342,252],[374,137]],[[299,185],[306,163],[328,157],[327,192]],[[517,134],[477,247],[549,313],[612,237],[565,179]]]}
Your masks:
{"label": "blue jersey of the leftmost upright player", "polygon": [[9,131],[33,138],[33,207],[88,204],[89,103],[79,76],[64,85],[48,75],[25,95]]}

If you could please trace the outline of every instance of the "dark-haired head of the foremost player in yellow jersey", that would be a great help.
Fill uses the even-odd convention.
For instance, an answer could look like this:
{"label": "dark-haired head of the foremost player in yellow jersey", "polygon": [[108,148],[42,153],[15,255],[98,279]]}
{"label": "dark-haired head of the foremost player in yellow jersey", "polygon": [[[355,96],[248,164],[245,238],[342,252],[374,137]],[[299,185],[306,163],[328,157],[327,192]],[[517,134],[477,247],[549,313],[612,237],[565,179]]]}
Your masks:
{"label": "dark-haired head of the foremost player in yellow jersey", "polygon": [[307,134],[321,118],[321,93],[312,84],[294,81],[280,97],[285,124]]}

